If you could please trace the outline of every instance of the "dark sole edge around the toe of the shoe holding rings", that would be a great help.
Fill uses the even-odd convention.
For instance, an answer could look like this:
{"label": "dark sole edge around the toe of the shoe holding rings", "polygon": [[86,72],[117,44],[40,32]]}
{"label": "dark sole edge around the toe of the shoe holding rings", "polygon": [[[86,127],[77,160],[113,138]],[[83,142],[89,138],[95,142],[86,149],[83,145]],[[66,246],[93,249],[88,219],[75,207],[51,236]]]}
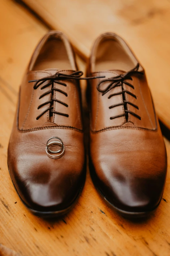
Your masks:
{"label": "dark sole edge around the toe of the shoe holding rings", "polygon": [[[9,171],[9,167],[8,167],[8,171]],[[10,171],[9,171],[9,175],[10,175],[10,177],[11,177]],[[34,215],[39,216],[39,217],[53,218],[53,217],[60,217],[60,216],[62,216],[62,215],[64,215],[64,214],[68,213],[68,212],[74,207],[74,205],[76,204],[76,202],[77,202],[79,196],[81,195],[81,192],[82,192],[83,187],[84,187],[84,184],[85,184],[85,177],[84,177],[84,176],[86,177],[86,171],[84,171],[84,175],[83,175],[83,178],[84,178],[83,180],[84,180],[84,182],[82,183],[82,186],[80,187],[79,192],[78,192],[77,196],[75,197],[74,201],[72,202],[72,204],[71,204],[70,206],[68,206],[67,208],[63,209],[63,210],[59,210],[59,211],[48,211],[48,212],[37,211],[37,210],[34,210],[34,209],[30,208],[30,207],[22,200],[20,194],[18,193],[18,191],[17,191],[17,189],[16,189],[16,187],[15,187],[15,184],[14,184],[14,182],[13,182],[13,180],[12,180],[12,177],[11,177],[11,180],[12,180],[12,183],[13,183],[13,185],[14,185],[14,188],[15,188],[15,190],[16,190],[16,192],[17,192],[17,194],[18,194],[18,196],[19,196],[19,198],[20,198],[20,200],[21,200],[21,202],[24,204],[24,206],[26,206],[26,208],[27,208],[31,213],[33,213]]]}

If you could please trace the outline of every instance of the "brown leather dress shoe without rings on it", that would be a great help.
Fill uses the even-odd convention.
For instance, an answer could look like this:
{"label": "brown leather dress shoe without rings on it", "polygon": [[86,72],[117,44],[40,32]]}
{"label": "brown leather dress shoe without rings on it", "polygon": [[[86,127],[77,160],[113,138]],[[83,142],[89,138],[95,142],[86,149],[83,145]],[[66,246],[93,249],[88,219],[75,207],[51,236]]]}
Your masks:
{"label": "brown leather dress shoe without rings on it", "polygon": [[166,179],[166,149],[145,71],[113,33],[94,43],[88,75],[90,171],[110,206],[124,216],[145,216],[159,205]]}

